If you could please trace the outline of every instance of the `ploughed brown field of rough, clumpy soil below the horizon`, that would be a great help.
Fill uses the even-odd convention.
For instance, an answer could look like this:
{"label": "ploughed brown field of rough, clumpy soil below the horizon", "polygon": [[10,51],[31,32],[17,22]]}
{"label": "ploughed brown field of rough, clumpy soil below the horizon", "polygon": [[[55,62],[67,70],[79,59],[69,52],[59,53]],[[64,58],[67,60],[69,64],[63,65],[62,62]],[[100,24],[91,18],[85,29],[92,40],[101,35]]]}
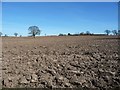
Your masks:
{"label": "ploughed brown field of rough, clumpy soil below the horizon", "polygon": [[14,88],[120,86],[115,36],[2,38],[2,85]]}

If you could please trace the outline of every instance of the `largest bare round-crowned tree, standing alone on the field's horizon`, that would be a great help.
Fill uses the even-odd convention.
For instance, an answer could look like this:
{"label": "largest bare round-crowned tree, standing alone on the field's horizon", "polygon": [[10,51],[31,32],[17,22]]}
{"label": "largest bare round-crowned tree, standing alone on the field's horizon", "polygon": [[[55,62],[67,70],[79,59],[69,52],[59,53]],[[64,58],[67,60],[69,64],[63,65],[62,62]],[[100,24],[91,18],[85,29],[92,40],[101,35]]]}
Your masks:
{"label": "largest bare round-crowned tree, standing alone on the field's horizon", "polygon": [[36,35],[40,35],[41,33],[41,30],[37,26],[30,26],[28,30],[29,34],[31,34],[33,37],[35,37]]}

